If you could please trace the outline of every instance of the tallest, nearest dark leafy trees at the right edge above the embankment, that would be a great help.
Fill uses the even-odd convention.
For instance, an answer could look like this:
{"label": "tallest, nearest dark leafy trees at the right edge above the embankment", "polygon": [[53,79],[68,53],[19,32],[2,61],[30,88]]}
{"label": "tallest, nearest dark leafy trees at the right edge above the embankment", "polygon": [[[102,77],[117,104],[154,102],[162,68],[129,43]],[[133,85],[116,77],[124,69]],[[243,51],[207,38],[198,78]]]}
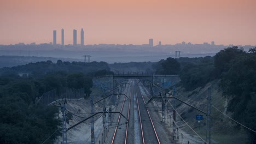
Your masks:
{"label": "tallest, nearest dark leafy trees at the right edge above the embankment", "polygon": [[[231,98],[228,104],[228,111],[233,113],[233,117],[252,129],[256,129],[256,55],[255,48],[250,49],[251,53],[243,50],[232,49],[232,57],[229,62],[223,62],[225,68],[218,67],[218,71],[223,70],[220,75],[220,87],[226,97]],[[253,51],[254,50],[254,51]],[[231,51],[231,50],[229,50]],[[228,53],[220,51],[219,53]],[[220,61],[219,57],[215,57]],[[223,65],[223,64],[222,64]],[[251,133],[251,143],[256,143],[256,134]]]}

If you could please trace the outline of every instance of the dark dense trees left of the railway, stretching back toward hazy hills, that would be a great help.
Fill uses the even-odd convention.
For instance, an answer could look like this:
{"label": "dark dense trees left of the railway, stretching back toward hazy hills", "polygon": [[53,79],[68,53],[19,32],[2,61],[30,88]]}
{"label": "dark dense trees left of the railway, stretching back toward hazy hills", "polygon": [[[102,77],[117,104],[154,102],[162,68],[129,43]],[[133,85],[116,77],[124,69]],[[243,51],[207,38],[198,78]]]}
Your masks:
{"label": "dark dense trees left of the railway, stretching back toward hazy hills", "polygon": [[[59,128],[58,110],[54,106],[37,105],[36,97],[62,87],[84,88],[86,95],[89,95],[92,77],[111,73],[104,62],[89,64],[58,61],[54,64],[48,61],[8,70],[14,69],[18,73],[28,74],[20,76],[17,73],[3,73],[0,76],[0,143],[42,143]],[[58,135],[60,131],[45,143],[53,143]]]}

